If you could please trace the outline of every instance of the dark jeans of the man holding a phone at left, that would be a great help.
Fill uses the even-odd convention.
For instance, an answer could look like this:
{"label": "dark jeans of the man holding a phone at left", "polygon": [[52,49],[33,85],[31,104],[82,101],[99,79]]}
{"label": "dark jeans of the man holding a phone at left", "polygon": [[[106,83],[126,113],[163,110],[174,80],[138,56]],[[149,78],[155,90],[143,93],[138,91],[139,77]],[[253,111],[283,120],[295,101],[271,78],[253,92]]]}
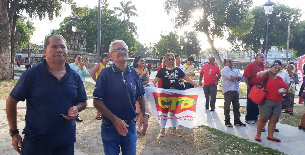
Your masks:
{"label": "dark jeans of the man holding a phone at left", "polygon": [[32,134],[25,134],[22,141],[21,155],[32,154],[73,155],[74,143],[65,146],[47,145],[37,141]]}

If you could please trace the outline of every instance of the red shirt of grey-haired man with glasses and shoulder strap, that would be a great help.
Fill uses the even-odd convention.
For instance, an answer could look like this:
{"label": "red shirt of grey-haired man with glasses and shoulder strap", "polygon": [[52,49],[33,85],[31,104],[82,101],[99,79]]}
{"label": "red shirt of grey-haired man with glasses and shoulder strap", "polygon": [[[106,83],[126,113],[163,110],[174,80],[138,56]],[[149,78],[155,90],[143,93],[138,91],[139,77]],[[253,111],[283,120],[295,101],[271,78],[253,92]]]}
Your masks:
{"label": "red shirt of grey-haired man with glasses and shoulder strap", "polygon": [[[254,63],[257,64],[258,68],[260,71],[266,70],[265,66],[262,64],[259,64],[256,60]],[[255,66],[254,63],[249,63],[248,66],[244,70],[243,77],[248,77],[249,78],[249,84],[255,85],[255,84],[260,84],[258,80],[256,79],[256,74],[259,72],[257,67]]]}

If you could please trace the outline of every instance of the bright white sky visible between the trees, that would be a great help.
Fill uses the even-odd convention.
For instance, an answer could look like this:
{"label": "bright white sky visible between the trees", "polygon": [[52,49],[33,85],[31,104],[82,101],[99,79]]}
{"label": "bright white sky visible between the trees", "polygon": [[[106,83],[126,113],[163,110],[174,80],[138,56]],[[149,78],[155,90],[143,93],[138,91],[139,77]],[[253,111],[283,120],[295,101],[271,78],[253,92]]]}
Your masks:
{"label": "bright white sky visible between the trees", "polygon": [[[109,3],[109,9],[113,9],[114,6],[120,7],[120,2],[123,0],[108,0]],[[126,0],[128,1],[128,0]],[[94,6],[98,5],[98,0],[74,0],[79,6],[85,6],[88,5],[90,8],[93,8]],[[177,31],[177,34],[183,35],[184,31],[192,31],[192,26],[185,26],[182,29],[175,29],[174,24],[171,23],[171,19],[175,17],[174,13],[171,13],[170,16],[168,16],[164,12],[163,8],[163,2],[164,0],[132,0],[132,5],[135,5],[137,8],[138,17],[132,16],[130,18],[131,22],[134,22],[135,25],[138,27],[137,33],[139,35],[138,38],[136,38],[141,44],[149,45],[151,43],[157,43],[158,40],[160,40],[160,34],[162,35],[168,35],[171,31]],[[253,0],[254,6],[262,6],[263,4],[267,2],[267,0]],[[275,3],[282,3],[284,5],[287,5],[289,7],[299,7],[299,8],[305,8],[305,2],[299,1],[299,0],[273,0]],[[49,20],[40,21],[37,19],[30,19],[34,23],[34,27],[36,28],[36,32],[31,38],[31,42],[40,45],[41,42],[44,40],[44,36],[49,34],[52,29],[58,29],[60,27],[60,22],[63,21],[63,19],[67,16],[71,16],[71,9],[68,5],[65,5],[65,9],[61,13],[61,17],[58,17],[57,19],[52,20],[51,22]],[[119,13],[119,12],[117,12]],[[302,11],[302,14],[304,14],[304,11]],[[123,19],[124,17],[119,17]],[[301,17],[301,20],[305,20],[305,16],[303,15]],[[86,31],[86,30],[85,30]],[[103,37],[103,36],[101,36]],[[200,40],[200,45],[202,49],[210,48],[209,43],[207,42],[206,35],[204,33],[198,33],[198,38]],[[227,50],[231,47],[229,43],[224,39],[218,39],[215,38],[214,46],[222,47]]]}

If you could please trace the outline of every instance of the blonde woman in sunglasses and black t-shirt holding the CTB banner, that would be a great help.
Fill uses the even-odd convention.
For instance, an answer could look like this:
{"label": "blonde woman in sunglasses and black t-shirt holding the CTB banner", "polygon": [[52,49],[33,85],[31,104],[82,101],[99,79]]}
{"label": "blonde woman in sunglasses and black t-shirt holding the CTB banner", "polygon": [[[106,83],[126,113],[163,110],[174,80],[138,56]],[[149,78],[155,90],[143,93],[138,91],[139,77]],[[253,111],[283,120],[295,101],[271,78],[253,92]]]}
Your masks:
{"label": "blonde woman in sunglasses and black t-shirt holding the CTB banner", "polygon": [[[167,53],[164,55],[162,61],[162,68],[158,71],[156,78],[154,79],[155,83],[159,82],[161,78],[162,78],[161,88],[163,89],[179,89],[179,78],[189,81],[189,83],[191,83],[195,87],[201,87],[200,85],[196,84],[192,79],[190,79],[188,76],[185,76],[183,71],[176,66],[174,54],[172,53]],[[160,136],[165,136],[166,121],[167,120],[162,120],[161,123],[162,131],[160,133]],[[177,123],[177,120],[172,120],[172,123],[173,123],[173,134],[179,137],[182,136],[177,131],[177,126],[175,125]]]}

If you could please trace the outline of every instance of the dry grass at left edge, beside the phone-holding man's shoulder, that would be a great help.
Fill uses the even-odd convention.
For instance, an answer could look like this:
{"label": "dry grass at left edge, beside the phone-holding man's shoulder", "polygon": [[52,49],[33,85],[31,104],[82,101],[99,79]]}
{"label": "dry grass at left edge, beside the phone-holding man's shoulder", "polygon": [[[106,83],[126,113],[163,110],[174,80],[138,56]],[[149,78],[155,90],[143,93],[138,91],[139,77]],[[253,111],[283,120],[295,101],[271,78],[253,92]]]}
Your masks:
{"label": "dry grass at left edge, beside the phone-holding man's shoulder", "polygon": [[0,80],[0,100],[6,100],[18,80]]}

